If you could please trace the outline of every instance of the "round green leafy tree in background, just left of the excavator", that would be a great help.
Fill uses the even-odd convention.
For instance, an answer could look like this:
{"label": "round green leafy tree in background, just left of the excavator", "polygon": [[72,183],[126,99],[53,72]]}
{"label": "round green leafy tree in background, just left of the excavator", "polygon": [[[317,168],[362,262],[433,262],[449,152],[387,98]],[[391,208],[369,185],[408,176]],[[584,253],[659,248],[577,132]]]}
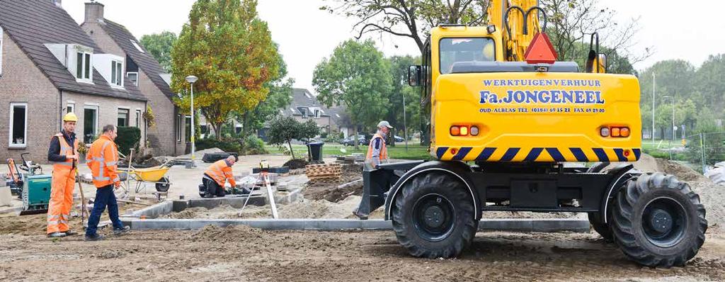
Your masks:
{"label": "round green leafy tree in background, just left of the excavator", "polygon": [[371,40],[348,40],[337,46],[331,57],[315,67],[312,85],[319,93],[318,100],[327,107],[344,104],[357,126],[376,124],[388,112],[390,70]]}

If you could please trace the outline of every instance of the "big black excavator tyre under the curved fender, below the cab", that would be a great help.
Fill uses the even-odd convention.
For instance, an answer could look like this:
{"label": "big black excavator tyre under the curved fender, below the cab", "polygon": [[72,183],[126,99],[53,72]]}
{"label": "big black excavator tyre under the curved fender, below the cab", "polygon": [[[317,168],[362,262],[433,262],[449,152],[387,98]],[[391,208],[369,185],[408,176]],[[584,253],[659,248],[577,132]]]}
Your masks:
{"label": "big black excavator tyre under the curved fender, below the cab", "polygon": [[478,220],[465,184],[445,173],[418,175],[395,199],[397,239],[415,257],[450,258],[473,241]]}

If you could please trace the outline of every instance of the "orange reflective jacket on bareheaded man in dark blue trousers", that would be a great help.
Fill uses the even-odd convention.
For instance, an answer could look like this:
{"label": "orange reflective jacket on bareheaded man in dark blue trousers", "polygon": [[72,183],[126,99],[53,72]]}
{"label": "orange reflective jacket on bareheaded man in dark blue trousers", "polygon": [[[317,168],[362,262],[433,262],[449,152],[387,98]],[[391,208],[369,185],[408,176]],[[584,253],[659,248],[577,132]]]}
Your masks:
{"label": "orange reflective jacket on bareheaded man in dark blue trousers", "polygon": [[96,188],[120,183],[118,177],[118,148],[114,141],[107,136],[101,136],[91,144],[86,156],[88,167],[93,174],[93,183]]}

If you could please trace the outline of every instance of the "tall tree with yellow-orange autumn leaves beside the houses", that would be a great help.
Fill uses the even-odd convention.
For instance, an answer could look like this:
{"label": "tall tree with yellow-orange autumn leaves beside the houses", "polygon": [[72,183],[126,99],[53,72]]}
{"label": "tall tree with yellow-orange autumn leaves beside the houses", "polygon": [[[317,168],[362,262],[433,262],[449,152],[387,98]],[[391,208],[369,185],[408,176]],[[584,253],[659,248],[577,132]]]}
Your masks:
{"label": "tall tree with yellow-orange autumn leaves beside the houses", "polygon": [[264,101],[266,83],[279,75],[279,54],[267,23],[257,17],[256,0],[199,0],[174,44],[172,88],[188,109],[187,75],[194,83],[194,106],[212,125],[216,138],[231,112],[244,114]]}

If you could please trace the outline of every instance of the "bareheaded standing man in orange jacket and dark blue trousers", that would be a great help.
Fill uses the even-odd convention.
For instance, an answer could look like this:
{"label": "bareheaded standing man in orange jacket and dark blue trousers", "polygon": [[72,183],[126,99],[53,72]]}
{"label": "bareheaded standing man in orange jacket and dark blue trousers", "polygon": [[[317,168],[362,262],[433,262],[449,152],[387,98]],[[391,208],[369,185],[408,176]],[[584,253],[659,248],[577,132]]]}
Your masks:
{"label": "bareheaded standing man in orange jacket and dark blue trousers", "polygon": [[96,229],[99,220],[101,220],[101,213],[106,207],[108,207],[108,215],[113,223],[113,233],[115,235],[121,235],[130,230],[128,226],[123,226],[121,220],[118,219],[118,204],[116,195],[113,193],[113,190],[121,185],[117,173],[118,148],[114,142],[117,136],[116,130],[117,128],[114,125],[104,126],[103,135],[91,144],[91,149],[86,157],[88,167],[91,168],[93,174],[94,186],[97,188],[93,210],[91,210],[91,216],[88,217],[87,241],[103,239],[103,236],[96,233]]}

